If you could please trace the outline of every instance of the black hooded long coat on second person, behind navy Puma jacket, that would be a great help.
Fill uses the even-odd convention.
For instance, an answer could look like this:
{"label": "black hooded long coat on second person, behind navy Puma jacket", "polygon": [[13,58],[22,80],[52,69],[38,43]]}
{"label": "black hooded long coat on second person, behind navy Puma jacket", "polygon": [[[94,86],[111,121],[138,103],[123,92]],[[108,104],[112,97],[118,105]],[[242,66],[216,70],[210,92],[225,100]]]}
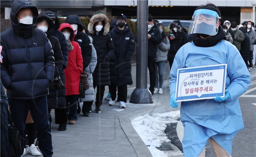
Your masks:
{"label": "black hooded long coat on second person, behind navy Puma jacket", "polygon": [[[51,44],[52,44],[52,50],[54,53],[54,63],[55,63],[55,71],[54,71],[54,78],[57,77],[59,78],[59,71],[61,71],[62,69],[62,64],[63,64],[63,56],[62,56],[62,52],[61,52],[61,48],[60,48],[60,43],[59,40],[52,36],[52,32],[54,30],[54,23],[52,21],[52,19],[44,14],[44,13],[40,13],[38,15],[37,18],[37,22],[39,23],[43,20],[46,20],[48,23],[48,31],[46,32],[47,34],[47,38],[50,40]],[[49,85],[49,95],[47,96],[47,103],[48,103],[48,109],[52,109],[57,107],[57,88],[55,84],[50,84]]]}

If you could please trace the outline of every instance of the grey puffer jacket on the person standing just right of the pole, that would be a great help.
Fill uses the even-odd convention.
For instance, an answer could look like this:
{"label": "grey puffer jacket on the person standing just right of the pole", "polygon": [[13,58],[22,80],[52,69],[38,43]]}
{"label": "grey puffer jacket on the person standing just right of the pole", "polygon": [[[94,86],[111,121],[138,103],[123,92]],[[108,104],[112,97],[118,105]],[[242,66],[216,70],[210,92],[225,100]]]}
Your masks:
{"label": "grey puffer jacket on the person standing just right of the pole", "polygon": [[157,46],[156,50],[156,62],[166,61],[167,54],[170,49],[170,41],[167,37]]}

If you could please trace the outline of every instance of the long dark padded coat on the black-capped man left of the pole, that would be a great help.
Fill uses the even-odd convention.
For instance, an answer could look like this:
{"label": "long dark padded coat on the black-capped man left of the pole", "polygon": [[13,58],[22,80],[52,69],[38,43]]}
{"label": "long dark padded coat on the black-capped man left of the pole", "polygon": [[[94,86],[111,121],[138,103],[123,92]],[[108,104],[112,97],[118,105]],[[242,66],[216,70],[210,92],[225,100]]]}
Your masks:
{"label": "long dark padded coat on the black-capped man left of the pole", "polygon": [[131,57],[134,53],[135,40],[128,26],[119,30],[117,25],[109,33],[115,46],[115,60],[110,62],[110,84],[116,86],[132,84]]}

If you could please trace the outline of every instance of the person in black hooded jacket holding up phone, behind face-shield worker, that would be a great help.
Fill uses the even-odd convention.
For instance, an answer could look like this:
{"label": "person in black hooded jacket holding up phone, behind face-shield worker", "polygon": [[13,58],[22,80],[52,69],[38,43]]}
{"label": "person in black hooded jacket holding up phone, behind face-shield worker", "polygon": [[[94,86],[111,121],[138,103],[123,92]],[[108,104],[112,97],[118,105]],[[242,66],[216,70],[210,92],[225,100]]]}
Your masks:
{"label": "person in black hooded jacket holding up phone, behind face-shield worker", "polygon": [[170,64],[170,68],[172,68],[174,57],[177,51],[180,49],[180,47],[188,42],[188,36],[181,30],[181,27],[175,22],[172,22],[170,24],[169,29],[171,31],[171,34],[174,35],[174,37],[171,36],[171,34],[168,36],[168,39],[170,40],[170,50],[168,52],[167,59]]}

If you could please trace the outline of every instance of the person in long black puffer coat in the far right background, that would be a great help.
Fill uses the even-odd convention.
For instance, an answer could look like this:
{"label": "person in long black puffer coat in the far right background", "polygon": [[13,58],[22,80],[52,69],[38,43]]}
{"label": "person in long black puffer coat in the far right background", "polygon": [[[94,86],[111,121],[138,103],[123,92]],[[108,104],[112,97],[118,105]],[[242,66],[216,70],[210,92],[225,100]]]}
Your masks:
{"label": "person in long black puffer coat in the far right background", "polygon": [[249,68],[249,60],[251,59],[251,52],[250,52],[250,37],[246,31],[246,28],[244,27],[240,27],[239,28],[240,31],[242,31],[244,33],[244,41],[241,42],[241,50],[240,50],[240,54],[244,59],[245,65],[247,66],[247,68]]}

